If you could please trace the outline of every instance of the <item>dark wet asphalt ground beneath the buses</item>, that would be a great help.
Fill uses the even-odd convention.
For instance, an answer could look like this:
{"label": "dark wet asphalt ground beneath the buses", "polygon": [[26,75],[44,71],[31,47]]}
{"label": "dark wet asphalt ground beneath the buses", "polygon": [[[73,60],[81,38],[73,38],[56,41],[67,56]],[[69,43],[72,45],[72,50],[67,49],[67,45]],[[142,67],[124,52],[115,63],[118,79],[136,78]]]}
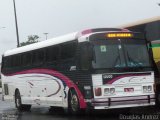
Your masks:
{"label": "dark wet asphalt ground beneath the buses", "polygon": [[87,114],[71,116],[63,111],[49,111],[47,107],[33,106],[30,111],[19,112],[13,102],[1,100],[0,120],[159,120],[160,109],[141,107],[112,111],[92,111]]}

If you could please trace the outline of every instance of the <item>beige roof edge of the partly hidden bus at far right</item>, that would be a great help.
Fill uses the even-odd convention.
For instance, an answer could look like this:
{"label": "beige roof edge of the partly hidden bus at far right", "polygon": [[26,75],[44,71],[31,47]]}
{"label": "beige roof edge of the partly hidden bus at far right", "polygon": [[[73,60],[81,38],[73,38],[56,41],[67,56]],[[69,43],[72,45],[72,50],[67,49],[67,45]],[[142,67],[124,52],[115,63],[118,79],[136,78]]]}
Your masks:
{"label": "beige roof edge of the partly hidden bus at far right", "polygon": [[152,18],[143,19],[143,20],[139,20],[139,21],[136,21],[136,22],[124,24],[124,25],[121,25],[119,27],[127,28],[127,27],[132,27],[132,26],[136,26],[136,25],[142,25],[142,24],[146,24],[146,23],[150,23],[150,22],[154,22],[154,21],[159,21],[159,20],[160,20],[160,16],[156,16],[156,17],[152,17]]}

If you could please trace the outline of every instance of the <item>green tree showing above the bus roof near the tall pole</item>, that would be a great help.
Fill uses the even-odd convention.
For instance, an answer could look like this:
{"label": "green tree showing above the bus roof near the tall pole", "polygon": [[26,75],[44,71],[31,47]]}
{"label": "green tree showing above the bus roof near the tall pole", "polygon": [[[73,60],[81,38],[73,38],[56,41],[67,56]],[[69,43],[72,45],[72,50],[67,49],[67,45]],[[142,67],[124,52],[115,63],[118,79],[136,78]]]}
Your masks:
{"label": "green tree showing above the bus roof near the tall pole", "polygon": [[39,42],[38,39],[39,39],[38,35],[29,35],[28,40],[26,42],[20,43],[20,46],[25,46],[25,45],[29,45],[29,44],[32,44],[32,43]]}

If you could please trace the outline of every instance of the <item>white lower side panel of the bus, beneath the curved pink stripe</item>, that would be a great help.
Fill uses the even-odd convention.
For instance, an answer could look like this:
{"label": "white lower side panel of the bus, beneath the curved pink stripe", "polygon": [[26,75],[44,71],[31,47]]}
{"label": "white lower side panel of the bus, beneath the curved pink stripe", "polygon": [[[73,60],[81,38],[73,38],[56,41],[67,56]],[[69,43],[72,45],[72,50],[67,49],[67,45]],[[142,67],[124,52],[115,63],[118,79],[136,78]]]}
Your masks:
{"label": "white lower side panel of the bus, beneath the curved pink stripe", "polygon": [[[31,71],[3,75],[4,100],[14,101],[15,91],[18,89],[22,104],[62,106],[64,89],[62,81],[47,74]],[[42,72],[45,73],[45,71]]]}

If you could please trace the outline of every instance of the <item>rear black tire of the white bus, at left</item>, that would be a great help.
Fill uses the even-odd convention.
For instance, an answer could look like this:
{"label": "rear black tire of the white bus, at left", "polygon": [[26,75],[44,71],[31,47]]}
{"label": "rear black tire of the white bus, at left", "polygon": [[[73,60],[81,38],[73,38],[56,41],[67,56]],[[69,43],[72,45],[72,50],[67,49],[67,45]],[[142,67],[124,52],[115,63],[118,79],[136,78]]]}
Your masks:
{"label": "rear black tire of the white bus, at left", "polygon": [[15,106],[19,111],[29,111],[31,109],[31,105],[22,104],[19,90],[15,92]]}

